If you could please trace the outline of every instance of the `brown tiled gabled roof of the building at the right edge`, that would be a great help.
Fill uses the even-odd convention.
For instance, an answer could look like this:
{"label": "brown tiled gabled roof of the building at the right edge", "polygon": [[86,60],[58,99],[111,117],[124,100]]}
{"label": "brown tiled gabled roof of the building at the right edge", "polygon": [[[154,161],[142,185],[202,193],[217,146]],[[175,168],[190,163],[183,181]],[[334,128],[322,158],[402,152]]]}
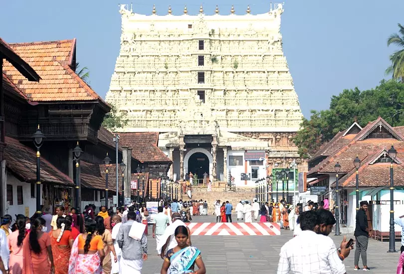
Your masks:
{"label": "brown tiled gabled roof of the building at the right edge", "polygon": [[[375,125],[382,125],[389,132],[392,132],[390,138],[365,138],[375,130]],[[335,164],[341,165],[340,183],[343,187],[355,186],[356,169],[354,159],[356,156],[361,160],[359,168],[360,186],[385,186],[389,184],[390,169],[389,163],[376,162],[381,151],[388,150],[392,145],[397,150],[398,162],[404,155],[404,141],[397,139],[402,137],[399,132],[390,127],[382,118],[369,123],[358,135],[348,144],[341,147],[338,151],[331,154],[312,168],[310,174],[335,174]],[[362,139],[362,140],[361,140]],[[394,164],[395,166],[395,185],[404,186],[404,163]],[[397,177],[397,179],[396,179]],[[335,185],[335,184],[334,184]]]}

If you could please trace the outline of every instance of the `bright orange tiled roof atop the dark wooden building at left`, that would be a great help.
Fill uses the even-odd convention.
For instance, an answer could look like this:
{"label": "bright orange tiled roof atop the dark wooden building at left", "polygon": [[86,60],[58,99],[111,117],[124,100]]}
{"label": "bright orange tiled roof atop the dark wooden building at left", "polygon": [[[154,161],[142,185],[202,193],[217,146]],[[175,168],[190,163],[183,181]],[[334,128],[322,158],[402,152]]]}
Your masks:
{"label": "bright orange tiled roof atop the dark wooden building at left", "polygon": [[4,73],[31,101],[99,100],[106,105],[71,69],[75,67],[76,39],[9,45],[42,78],[39,83],[30,82],[4,62]]}

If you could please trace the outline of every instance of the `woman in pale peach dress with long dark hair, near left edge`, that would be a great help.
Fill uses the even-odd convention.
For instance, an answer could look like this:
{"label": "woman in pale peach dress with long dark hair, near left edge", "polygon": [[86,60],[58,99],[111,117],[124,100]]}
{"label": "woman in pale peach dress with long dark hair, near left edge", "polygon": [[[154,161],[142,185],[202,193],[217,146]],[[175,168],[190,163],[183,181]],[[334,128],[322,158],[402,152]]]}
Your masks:
{"label": "woman in pale peach dress with long dark hair, near left edge", "polygon": [[15,222],[17,230],[8,236],[10,260],[8,262],[9,274],[22,274],[22,241],[25,238],[25,220]]}

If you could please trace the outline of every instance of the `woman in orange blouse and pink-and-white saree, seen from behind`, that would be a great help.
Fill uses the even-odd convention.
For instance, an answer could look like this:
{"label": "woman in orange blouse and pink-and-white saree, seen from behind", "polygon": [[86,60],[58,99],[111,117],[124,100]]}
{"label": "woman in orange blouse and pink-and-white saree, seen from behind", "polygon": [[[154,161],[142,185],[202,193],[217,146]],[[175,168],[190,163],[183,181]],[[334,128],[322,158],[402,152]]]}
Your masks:
{"label": "woman in orange blouse and pink-and-white saree, seen from behind", "polygon": [[69,260],[69,274],[102,274],[104,243],[95,234],[96,222],[93,219],[85,223],[86,233],[74,240]]}

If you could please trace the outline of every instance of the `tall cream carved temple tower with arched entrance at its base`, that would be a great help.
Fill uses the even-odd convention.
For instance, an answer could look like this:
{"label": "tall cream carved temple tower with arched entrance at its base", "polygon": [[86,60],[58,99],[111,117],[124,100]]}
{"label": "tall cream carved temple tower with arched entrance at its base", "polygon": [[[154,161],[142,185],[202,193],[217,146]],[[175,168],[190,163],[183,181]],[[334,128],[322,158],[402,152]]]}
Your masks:
{"label": "tall cream carved temple tower with arched entrance at its base", "polygon": [[[241,159],[239,173],[251,176],[236,177],[243,184],[255,180],[247,161],[262,164],[261,178],[298,157],[291,139],[303,116],[282,51],[283,6],[228,12],[216,6],[206,15],[201,5],[197,15],[185,7],[177,16],[170,6],[158,15],[153,6],[143,15],[120,8],[121,49],[106,100],[127,113],[122,131],[160,133],[158,145],[173,159],[177,178],[189,171],[190,149],[206,155],[212,179],[237,175],[231,167]],[[234,151],[243,157],[230,157],[238,156]],[[251,151],[262,157],[252,159]]]}

